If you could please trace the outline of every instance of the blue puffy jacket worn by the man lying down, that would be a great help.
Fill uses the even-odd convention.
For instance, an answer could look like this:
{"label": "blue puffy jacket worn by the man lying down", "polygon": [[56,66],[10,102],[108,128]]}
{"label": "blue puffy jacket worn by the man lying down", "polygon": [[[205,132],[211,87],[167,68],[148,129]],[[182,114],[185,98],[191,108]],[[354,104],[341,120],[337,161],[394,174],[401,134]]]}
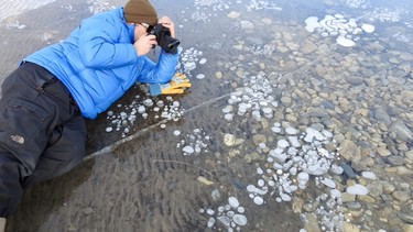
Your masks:
{"label": "blue puffy jacket worn by the man lying down", "polygon": [[167,82],[178,55],[160,54],[157,64],[133,47],[134,25],[123,8],[85,19],[63,42],[40,49],[23,60],[43,66],[70,91],[85,118],[109,108],[135,81]]}

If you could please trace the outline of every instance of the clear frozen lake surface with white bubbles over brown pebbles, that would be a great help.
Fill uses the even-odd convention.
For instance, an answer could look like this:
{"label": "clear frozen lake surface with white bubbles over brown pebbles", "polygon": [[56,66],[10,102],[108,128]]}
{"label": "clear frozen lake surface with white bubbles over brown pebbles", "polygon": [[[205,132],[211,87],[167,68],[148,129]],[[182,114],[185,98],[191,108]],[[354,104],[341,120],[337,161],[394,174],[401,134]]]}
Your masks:
{"label": "clear frozen lake surface with white bubbles over brown pebbles", "polygon": [[[1,79],[124,3],[40,2],[1,9]],[[193,87],[137,84],[88,121],[85,163],[28,189],[9,231],[413,230],[412,2],[152,2]]]}

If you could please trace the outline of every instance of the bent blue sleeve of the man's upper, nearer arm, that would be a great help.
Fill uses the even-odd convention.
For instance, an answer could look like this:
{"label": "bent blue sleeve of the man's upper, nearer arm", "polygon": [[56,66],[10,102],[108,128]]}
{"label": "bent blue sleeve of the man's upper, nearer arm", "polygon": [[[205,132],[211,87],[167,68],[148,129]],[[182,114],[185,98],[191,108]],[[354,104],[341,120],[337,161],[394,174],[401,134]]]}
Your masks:
{"label": "bent blue sleeve of the man's upper, nearer arm", "polygon": [[112,69],[137,62],[132,43],[119,42],[126,27],[110,18],[89,18],[79,27],[79,54],[86,67]]}

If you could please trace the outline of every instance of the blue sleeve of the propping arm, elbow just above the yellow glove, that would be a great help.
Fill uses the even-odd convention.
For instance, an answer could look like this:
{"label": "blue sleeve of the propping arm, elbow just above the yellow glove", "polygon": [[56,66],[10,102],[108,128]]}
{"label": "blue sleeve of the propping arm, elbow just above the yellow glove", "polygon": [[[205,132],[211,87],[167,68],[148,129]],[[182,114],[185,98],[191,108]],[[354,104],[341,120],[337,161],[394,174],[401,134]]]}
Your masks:
{"label": "blue sleeve of the propping arm, elbow just above the yellow glove", "polygon": [[142,71],[137,81],[143,84],[164,84],[170,81],[175,74],[178,56],[180,52],[169,54],[162,49],[156,64],[145,57]]}

